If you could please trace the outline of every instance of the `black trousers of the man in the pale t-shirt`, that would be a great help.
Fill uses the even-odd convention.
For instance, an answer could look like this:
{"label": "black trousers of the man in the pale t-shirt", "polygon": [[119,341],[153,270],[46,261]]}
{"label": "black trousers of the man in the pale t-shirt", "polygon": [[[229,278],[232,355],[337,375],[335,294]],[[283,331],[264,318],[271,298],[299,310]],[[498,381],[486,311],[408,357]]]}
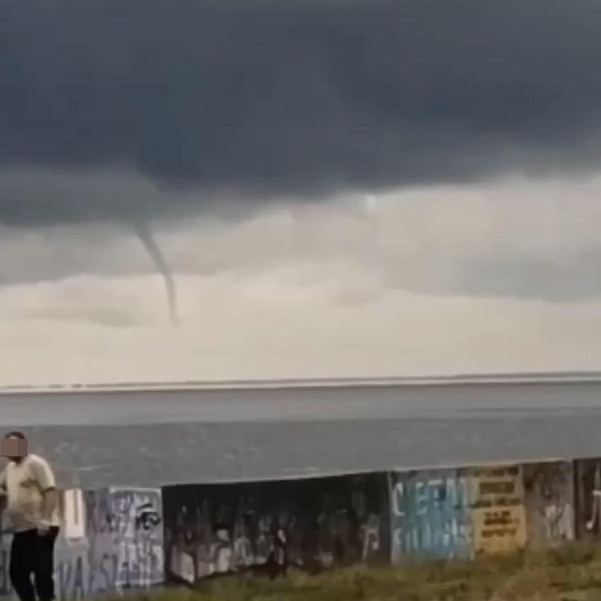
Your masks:
{"label": "black trousers of the man in the pale t-shirt", "polygon": [[[54,543],[58,526],[44,534],[37,530],[15,532],[10,549],[10,581],[20,601],[54,599]],[[35,591],[31,582],[35,579]]]}

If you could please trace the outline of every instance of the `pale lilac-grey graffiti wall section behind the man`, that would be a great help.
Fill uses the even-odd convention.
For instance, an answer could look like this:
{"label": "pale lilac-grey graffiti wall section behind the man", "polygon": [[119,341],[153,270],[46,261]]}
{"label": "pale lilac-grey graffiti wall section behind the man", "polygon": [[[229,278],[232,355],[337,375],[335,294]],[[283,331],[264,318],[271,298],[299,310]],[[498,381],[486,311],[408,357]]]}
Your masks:
{"label": "pale lilac-grey graffiti wall section behind the man", "polygon": [[[160,489],[61,492],[55,548],[58,600],[145,588],[165,580]],[[14,597],[8,578],[12,531],[2,518],[0,596]]]}

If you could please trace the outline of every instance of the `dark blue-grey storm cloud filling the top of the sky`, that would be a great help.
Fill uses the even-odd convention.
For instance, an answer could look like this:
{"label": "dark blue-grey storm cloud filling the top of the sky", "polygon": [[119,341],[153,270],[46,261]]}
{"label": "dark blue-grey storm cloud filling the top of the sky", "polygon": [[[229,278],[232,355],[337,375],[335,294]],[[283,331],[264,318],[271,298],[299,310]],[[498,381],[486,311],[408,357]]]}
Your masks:
{"label": "dark blue-grey storm cloud filling the top of the sky", "polygon": [[[263,199],[588,168],[600,22],[599,0],[1,0],[0,162]],[[203,198],[24,186],[0,221]]]}

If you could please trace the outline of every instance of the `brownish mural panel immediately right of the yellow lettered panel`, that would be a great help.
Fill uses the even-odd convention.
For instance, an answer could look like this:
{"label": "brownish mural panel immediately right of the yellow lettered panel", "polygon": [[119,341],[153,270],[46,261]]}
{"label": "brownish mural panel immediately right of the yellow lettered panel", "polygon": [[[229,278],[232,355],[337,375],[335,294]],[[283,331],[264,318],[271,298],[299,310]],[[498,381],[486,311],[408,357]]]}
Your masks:
{"label": "brownish mural panel immediately right of the yellow lettered panel", "polygon": [[575,537],[572,462],[522,465],[528,546],[540,551]]}

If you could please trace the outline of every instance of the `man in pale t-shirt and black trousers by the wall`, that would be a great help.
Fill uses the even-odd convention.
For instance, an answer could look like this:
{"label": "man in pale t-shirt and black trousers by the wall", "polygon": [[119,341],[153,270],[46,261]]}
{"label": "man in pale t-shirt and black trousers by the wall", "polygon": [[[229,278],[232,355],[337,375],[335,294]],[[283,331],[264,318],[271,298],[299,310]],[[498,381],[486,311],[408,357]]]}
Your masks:
{"label": "man in pale t-shirt and black trousers by the wall", "polygon": [[11,584],[20,601],[35,601],[35,592],[39,601],[53,601],[54,543],[59,530],[54,474],[43,457],[29,453],[22,432],[8,432],[1,444],[8,463],[0,475],[0,494],[14,526]]}

